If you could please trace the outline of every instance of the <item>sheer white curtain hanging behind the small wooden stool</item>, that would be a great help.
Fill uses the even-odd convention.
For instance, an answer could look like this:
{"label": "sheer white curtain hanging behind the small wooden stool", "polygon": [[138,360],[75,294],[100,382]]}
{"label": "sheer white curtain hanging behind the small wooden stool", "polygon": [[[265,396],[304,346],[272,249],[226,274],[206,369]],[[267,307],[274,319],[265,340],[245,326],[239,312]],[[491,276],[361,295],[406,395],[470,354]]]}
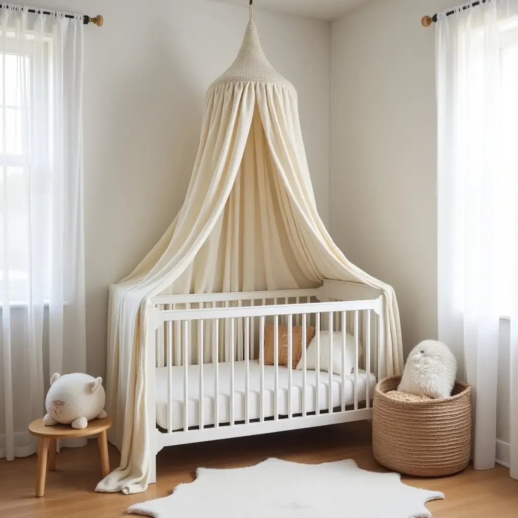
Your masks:
{"label": "sheer white curtain hanging behind the small wooden stool", "polygon": [[81,17],[0,9],[0,457],[53,372],[86,367]]}

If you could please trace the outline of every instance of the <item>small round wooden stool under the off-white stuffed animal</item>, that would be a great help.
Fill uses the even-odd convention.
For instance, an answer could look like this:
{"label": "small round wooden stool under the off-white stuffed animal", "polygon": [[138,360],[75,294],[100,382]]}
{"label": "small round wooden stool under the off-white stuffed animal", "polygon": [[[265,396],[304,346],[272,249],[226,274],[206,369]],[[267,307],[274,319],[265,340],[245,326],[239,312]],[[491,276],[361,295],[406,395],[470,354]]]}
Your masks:
{"label": "small round wooden stool under the off-white stuffed animal", "polygon": [[38,438],[38,476],[36,478],[36,497],[43,496],[45,492],[45,476],[47,474],[47,454],[49,471],[56,469],[56,440],[85,437],[87,435],[97,435],[100,452],[100,466],[103,477],[110,472],[110,461],[108,458],[108,428],[111,428],[113,420],[92,419],[88,426],[82,430],[76,430],[69,424],[55,424],[45,426],[43,419],[37,419],[29,425],[29,433]]}

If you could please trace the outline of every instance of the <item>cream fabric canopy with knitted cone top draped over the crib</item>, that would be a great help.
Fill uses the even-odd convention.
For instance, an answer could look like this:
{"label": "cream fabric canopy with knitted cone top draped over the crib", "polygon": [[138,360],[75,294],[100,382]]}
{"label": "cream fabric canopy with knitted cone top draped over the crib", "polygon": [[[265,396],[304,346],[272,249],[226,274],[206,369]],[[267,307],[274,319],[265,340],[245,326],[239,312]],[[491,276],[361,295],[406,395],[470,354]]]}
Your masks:
{"label": "cream fabric canopy with knitted cone top draped over the crib", "polygon": [[252,20],[234,64],[208,89],[196,163],[183,206],[130,276],[110,286],[108,412],[121,465],[97,491],[146,490],[146,311],[160,293],[368,284],[386,298],[388,375],[402,371],[391,286],[351,264],[316,210],[297,93],[266,59]]}

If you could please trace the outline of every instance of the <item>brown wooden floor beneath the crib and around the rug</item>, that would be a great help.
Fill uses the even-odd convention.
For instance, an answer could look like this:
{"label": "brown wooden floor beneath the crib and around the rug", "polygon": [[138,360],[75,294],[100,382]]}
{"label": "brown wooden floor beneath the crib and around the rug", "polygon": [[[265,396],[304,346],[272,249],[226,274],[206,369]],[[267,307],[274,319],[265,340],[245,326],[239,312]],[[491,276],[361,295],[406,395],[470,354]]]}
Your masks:
{"label": "brown wooden floor beneath the crib and around the rug", "polygon": [[[301,463],[353,458],[359,467],[382,471],[372,457],[370,423],[357,422],[287,431],[240,439],[189,444],[162,450],[157,458],[156,484],[144,494],[95,493],[100,479],[97,441],[79,449],[63,449],[56,471],[47,473],[45,496],[34,497],[36,456],[0,461],[0,516],[2,518],[112,518],[122,516],[134,502],[167,496],[181,482],[194,480],[206,467],[249,466],[268,457]],[[110,449],[112,468],[118,452]],[[442,491],[446,499],[429,502],[436,518],[518,518],[518,481],[497,466],[440,479],[405,477],[407,484]],[[380,517],[382,518],[382,517]]]}

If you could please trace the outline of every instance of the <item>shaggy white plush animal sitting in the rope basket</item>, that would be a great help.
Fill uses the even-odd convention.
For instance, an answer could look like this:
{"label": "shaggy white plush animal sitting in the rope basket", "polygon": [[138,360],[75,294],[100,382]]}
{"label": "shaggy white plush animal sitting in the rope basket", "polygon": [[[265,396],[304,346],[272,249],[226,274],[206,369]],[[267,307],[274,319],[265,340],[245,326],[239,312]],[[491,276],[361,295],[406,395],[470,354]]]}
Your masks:
{"label": "shaggy white plush animal sitting in the rope basket", "polygon": [[424,340],[410,351],[397,390],[434,399],[450,397],[456,375],[457,361],[448,346]]}

